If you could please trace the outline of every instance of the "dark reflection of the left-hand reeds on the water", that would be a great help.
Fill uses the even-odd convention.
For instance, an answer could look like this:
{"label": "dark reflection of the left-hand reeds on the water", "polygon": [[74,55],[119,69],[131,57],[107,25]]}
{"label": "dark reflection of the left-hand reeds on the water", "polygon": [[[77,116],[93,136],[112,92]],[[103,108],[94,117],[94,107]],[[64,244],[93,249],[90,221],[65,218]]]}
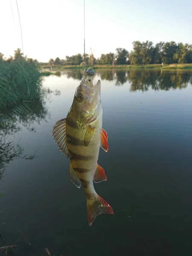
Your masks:
{"label": "dark reflection of the left-hand reeds on the water", "polygon": [[[19,143],[15,143],[14,135],[25,127],[30,132],[36,132],[33,126],[34,122],[41,124],[47,118],[50,119],[50,113],[46,107],[47,101],[50,99],[50,94],[53,91],[43,88],[41,95],[33,102],[22,102],[14,109],[0,115],[0,180],[3,172],[15,158],[23,158],[32,160],[36,154],[24,154],[25,148]],[[55,90],[55,95],[60,95],[58,90]],[[12,138],[12,141],[10,139]]]}

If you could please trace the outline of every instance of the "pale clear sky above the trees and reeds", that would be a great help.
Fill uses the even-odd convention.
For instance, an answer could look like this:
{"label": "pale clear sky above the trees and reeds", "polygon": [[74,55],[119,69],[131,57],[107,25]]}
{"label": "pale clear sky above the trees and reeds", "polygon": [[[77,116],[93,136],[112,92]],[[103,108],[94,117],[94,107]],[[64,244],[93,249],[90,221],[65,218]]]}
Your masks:
{"label": "pale clear sky above the trees and reeds", "polygon": [[[28,58],[84,52],[84,0],[17,0]],[[22,49],[16,0],[0,0],[0,52]],[[192,0],[85,0],[85,52],[96,58],[133,41],[192,44]]]}

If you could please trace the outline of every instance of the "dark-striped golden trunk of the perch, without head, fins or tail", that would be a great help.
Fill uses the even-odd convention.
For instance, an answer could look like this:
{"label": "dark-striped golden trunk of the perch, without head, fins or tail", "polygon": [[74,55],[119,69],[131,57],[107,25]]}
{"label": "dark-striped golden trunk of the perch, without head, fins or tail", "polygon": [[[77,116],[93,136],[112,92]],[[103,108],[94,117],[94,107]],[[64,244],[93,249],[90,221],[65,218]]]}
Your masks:
{"label": "dark-striped golden trunk of the perch, without head, fins or tail", "polygon": [[[66,118],[66,140],[70,165],[76,172],[87,196],[94,193],[93,176],[96,171],[102,132],[102,108],[97,119],[84,124],[75,119],[73,111]],[[89,189],[88,189],[89,188]]]}

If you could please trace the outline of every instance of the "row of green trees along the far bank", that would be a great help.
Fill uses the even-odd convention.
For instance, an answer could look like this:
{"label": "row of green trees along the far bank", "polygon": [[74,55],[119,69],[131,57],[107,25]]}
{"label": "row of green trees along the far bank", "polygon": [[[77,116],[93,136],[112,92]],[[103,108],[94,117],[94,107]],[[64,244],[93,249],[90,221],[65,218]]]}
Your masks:
{"label": "row of green trees along the far bank", "polygon": [[[192,45],[176,44],[171,42],[159,42],[153,44],[151,41],[133,42],[132,51],[128,52],[125,48],[117,48],[116,52],[101,54],[100,58],[95,58],[93,53],[85,54],[85,62],[88,65],[144,65],[144,64],[177,64],[192,63]],[[49,60],[50,65],[84,65],[84,54],[80,53],[66,56],[65,59],[59,57]]]}

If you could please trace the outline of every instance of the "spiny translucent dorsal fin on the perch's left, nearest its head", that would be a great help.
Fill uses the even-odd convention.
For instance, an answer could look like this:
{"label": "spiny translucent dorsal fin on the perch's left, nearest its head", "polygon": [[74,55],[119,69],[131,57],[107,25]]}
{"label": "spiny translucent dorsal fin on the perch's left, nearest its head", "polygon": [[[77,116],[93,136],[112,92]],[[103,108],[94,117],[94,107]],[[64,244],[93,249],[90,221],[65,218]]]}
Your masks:
{"label": "spiny translucent dorsal fin on the perch's left, nearest its head", "polygon": [[52,134],[52,137],[54,138],[55,143],[57,143],[59,150],[61,150],[66,157],[69,157],[66,139],[66,118],[60,119],[55,123]]}

